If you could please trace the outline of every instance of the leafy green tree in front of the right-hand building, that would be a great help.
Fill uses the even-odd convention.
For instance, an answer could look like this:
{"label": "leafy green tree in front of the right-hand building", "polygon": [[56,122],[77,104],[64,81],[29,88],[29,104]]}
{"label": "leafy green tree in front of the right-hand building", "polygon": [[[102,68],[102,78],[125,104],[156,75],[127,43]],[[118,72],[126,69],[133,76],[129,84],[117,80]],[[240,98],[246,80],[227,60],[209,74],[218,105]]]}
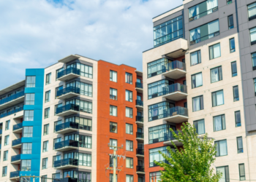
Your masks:
{"label": "leafy green tree in front of the right-hand building", "polygon": [[198,137],[195,127],[191,124],[183,124],[181,131],[176,134],[172,129],[173,137],[183,144],[178,149],[175,143],[171,141],[175,150],[167,147],[168,154],[162,154],[169,164],[165,162],[155,162],[163,167],[161,171],[162,182],[218,182],[222,178],[222,173],[214,173],[213,163],[217,153],[214,140],[208,138],[208,135]]}

